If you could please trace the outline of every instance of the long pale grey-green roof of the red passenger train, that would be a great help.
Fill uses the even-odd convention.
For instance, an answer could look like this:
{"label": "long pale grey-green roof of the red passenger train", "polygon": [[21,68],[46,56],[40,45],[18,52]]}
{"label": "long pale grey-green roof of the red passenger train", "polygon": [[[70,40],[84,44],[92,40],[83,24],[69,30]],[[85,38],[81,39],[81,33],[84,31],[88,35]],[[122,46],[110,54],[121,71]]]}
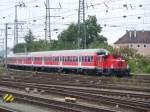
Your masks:
{"label": "long pale grey-green roof of the red passenger train", "polygon": [[76,50],[57,50],[57,51],[40,51],[40,52],[28,52],[28,53],[16,53],[8,57],[21,57],[21,56],[36,56],[36,55],[48,55],[48,54],[93,54],[93,53],[104,53],[108,54],[106,49],[76,49]]}

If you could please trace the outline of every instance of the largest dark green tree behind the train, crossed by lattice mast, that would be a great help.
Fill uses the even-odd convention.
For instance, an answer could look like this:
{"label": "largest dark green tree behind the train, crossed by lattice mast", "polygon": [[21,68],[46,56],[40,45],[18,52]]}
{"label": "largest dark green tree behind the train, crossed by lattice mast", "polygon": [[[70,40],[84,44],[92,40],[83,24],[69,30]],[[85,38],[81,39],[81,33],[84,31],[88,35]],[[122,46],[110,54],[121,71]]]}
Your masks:
{"label": "largest dark green tree behind the train, crossed by lattice mast", "polygon": [[[93,42],[99,44],[107,43],[107,39],[100,35],[102,27],[97,23],[96,16],[88,16],[86,22],[86,44],[87,48]],[[81,26],[83,23],[81,24]],[[81,27],[80,41],[81,44],[84,42],[83,27]],[[56,43],[55,43],[56,45]],[[57,41],[58,49],[76,49],[78,48],[78,24],[72,23],[69,27],[58,35]],[[83,46],[83,45],[81,45]]]}

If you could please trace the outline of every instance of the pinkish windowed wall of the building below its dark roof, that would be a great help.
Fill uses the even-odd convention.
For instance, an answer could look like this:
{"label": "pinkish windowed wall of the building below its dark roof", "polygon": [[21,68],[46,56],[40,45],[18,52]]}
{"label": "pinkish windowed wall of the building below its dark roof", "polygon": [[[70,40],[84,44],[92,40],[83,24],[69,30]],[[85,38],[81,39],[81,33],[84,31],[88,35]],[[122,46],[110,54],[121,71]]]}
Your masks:
{"label": "pinkish windowed wall of the building below its dark roof", "polygon": [[144,43],[130,43],[130,44],[115,44],[115,47],[129,47],[136,49],[137,52],[143,56],[150,56],[150,44]]}

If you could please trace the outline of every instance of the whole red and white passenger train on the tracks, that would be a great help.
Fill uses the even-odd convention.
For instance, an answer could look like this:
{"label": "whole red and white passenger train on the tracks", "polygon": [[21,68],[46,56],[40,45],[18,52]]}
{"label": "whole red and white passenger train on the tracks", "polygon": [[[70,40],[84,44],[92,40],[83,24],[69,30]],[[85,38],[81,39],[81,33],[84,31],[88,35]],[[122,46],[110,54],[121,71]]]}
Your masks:
{"label": "whole red and white passenger train on the tracks", "polygon": [[47,72],[128,75],[129,68],[121,57],[106,49],[81,49],[19,53],[8,56],[8,67]]}

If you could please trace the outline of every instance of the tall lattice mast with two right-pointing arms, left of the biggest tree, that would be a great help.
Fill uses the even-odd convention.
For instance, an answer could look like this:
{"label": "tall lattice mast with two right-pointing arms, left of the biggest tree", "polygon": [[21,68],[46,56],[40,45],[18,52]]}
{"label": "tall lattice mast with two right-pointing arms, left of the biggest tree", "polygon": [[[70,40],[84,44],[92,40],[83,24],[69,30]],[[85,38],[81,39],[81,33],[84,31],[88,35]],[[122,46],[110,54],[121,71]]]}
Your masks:
{"label": "tall lattice mast with two right-pointing arms, left of the biggest tree", "polygon": [[45,9],[46,9],[46,16],[45,16],[45,40],[51,41],[51,18],[52,17],[61,17],[61,16],[51,16],[51,10],[52,9],[61,9],[60,8],[51,8],[50,7],[50,0],[46,0],[45,3]]}

